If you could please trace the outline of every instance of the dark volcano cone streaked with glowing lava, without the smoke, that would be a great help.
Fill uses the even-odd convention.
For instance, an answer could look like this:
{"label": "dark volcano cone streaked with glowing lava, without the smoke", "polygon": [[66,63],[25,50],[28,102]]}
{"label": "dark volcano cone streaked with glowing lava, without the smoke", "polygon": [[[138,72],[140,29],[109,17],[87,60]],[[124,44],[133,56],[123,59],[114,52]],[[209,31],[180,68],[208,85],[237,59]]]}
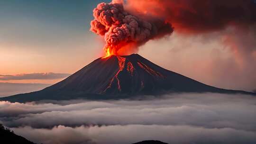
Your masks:
{"label": "dark volcano cone streaked with glowing lava, without the smoke", "polygon": [[139,54],[101,57],[44,90],[1,98],[11,102],[44,99],[127,99],[178,92],[255,94],[224,90],[166,70]]}

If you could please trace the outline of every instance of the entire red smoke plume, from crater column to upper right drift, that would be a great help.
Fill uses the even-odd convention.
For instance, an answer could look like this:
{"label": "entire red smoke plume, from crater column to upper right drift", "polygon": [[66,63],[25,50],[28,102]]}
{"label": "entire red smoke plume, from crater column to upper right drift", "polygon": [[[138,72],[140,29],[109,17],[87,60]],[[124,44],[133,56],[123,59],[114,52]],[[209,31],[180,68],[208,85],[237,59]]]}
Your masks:
{"label": "entire red smoke plume, from crater column to upper right drift", "polygon": [[[122,0],[117,0],[122,1]],[[125,0],[101,3],[93,10],[91,31],[105,36],[111,53],[129,51],[151,38],[175,31],[201,34],[256,23],[255,0]],[[156,19],[161,18],[162,20]],[[172,25],[172,26],[171,26]],[[255,37],[254,37],[255,38]],[[255,46],[255,45],[253,45]],[[131,48],[130,48],[131,49]],[[129,52],[128,52],[129,53]]]}

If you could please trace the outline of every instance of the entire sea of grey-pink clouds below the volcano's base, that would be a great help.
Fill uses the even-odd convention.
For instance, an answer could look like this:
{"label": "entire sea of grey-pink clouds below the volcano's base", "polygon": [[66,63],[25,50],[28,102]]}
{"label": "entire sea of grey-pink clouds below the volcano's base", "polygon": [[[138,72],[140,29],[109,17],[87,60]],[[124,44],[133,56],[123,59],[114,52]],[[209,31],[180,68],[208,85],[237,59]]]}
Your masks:
{"label": "entire sea of grey-pink clouds below the volcano's base", "polygon": [[0,123],[39,144],[256,144],[256,97],[184,93],[146,100],[0,101]]}

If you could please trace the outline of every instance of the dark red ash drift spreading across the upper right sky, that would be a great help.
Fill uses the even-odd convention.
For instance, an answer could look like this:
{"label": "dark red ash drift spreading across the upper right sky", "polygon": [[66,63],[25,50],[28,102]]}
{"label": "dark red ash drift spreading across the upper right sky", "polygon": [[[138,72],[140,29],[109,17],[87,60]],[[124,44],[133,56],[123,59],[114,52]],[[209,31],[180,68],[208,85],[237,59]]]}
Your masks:
{"label": "dark red ash drift spreading across the upper right sky", "polygon": [[134,13],[143,12],[170,22],[175,31],[202,33],[228,26],[256,23],[255,0],[127,0]]}

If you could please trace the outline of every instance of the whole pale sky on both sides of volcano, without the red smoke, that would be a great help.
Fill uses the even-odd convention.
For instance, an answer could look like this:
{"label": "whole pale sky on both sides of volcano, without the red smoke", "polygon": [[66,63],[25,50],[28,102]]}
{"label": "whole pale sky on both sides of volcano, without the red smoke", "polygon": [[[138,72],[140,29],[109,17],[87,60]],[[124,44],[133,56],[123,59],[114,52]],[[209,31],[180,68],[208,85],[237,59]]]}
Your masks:
{"label": "whole pale sky on both sides of volcano, without the red smoke", "polygon": [[[103,39],[90,31],[92,10],[100,2],[110,0],[1,0],[0,82],[53,84],[103,56]],[[212,86],[253,91],[256,32],[234,29],[183,35],[174,27],[172,35],[148,41],[137,53]],[[238,54],[228,45],[232,38],[253,44],[235,45],[249,47]]]}

